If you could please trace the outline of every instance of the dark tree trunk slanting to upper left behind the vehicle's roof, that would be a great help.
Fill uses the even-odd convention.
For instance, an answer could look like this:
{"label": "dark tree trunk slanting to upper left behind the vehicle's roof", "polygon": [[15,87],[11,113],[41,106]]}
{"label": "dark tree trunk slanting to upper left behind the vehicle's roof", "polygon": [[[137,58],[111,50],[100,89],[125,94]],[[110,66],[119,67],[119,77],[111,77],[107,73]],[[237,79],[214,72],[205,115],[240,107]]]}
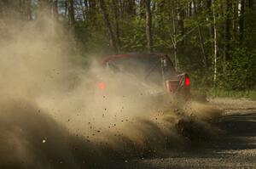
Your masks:
{"label": "dark tree trunk slanting to upper left behind the vehicle's roof", "polygon": [[117,53],[118,50],[117,50],[115,39],[113,37],[113,30],[112,30],[112,26],[106,10],[106,4],[104,0],[99,0],[99,4],[100,4],[100,8],[102,9],[102,14],[108,28],[108,37],[109,37],[110,47],[113,48],[114,53]]}

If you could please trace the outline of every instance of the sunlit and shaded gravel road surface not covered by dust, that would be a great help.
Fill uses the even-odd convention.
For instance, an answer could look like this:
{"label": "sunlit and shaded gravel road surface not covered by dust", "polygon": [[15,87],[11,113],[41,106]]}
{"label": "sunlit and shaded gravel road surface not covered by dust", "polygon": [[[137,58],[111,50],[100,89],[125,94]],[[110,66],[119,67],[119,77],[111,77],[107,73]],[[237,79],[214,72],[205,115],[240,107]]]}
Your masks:
{"label": "sunlit and shaded gravel road surface not covered by dust", "polygon": [[224,109],[215,124],[223,131],[219,138],[119,162],[113,168],[256,168],[256,102],[211,99],[210,103]]}

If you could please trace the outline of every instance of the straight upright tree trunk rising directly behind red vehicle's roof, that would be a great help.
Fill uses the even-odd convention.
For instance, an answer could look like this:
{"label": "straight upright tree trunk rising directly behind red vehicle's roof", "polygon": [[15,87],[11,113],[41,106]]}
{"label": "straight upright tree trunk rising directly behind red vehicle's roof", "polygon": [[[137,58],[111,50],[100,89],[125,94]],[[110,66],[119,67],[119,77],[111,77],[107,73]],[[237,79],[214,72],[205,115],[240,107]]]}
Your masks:
{"label": "straight upright tree trunk rising directly behind red vehicle's roof", "polygon": [[150,10],[150,3],[151,0],[146,0],[145,6],[146,6],[146,36],[147,36],[147,48],[148,52],[152,53],[152,16],[151,16],[151,10]]}

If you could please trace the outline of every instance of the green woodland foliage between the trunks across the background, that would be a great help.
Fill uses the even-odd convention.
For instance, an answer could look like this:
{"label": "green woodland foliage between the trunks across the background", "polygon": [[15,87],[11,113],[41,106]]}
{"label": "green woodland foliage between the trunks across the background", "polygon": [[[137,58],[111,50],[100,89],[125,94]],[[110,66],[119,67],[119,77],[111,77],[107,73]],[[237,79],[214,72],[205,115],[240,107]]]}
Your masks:
{"label": "green woodland foliage between the trunks across the background", "polygon": [[[21,17],[23,20],[30,14],[32,20],[37,20],[37,11],[42,8],[38,2],[32,0],[31,3],[23,4],[15,0],[0,1],[1,14],[15,15],[18,19],[24,15]],[[120,43],[119,53],[145,52],[145,1],[116,0],[117,10],[113,0],[104,2],[113,37]],[[73,3],[75,23],[71,30],[75,35],[77,51],[84,57],[113,54],[99,1],[73,0]],[[50,8],[49,12],[53,11],[52,5],[46,5]],[[177,61],[179,70],[189,73],[194,89],[255,90],[256,3],[251,7],[246,4],[244,8],[244,14],[241,14],[241,1],[237,0],[151,0],[152,48],[155,53],[168,54],[173,62]],[[70,29],[66,1],[58,1],[58,10],[59,23]],[[229,32],[225,29],[227,20],[230,20]],[[241,25],[244,25],[244,29],[241,29]],[[228,39],[227,33],[230,34]],[[214,42],[217,48],[216,82],[213,82]],[[226,48],[226,44],[229,44],[229,48]],[[230,54],[229,59],[224,60],[224,54]]]}

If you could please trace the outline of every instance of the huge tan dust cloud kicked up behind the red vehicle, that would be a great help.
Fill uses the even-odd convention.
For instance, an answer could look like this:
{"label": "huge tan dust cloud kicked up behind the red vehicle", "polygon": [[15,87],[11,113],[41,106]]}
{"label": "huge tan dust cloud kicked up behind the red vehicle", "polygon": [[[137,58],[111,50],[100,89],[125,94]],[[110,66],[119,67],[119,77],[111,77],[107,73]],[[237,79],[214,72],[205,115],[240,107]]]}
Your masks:
{"label": "huge tan dust cloud kicked up behind the red vehicle", "polygon": [[1,168],[102,167],[218,133],[210,121],[221,111],[148,97],[153,86],[85,61],[47,16],[2,19],[0,35]]}

